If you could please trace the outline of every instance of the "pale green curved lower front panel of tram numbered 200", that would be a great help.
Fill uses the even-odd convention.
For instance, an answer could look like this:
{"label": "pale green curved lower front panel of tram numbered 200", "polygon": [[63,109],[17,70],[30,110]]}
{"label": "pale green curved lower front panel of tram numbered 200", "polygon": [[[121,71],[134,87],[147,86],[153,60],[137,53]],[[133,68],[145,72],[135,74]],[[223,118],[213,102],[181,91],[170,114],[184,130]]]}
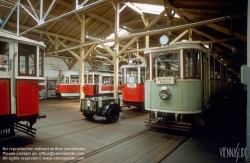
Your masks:
{"label": "pale green curved lower front panel of tram numbered 200", "polygon": [[[162,100],[159,91],[167,86],[172,93],[169,100]],[[145,108],[163,112],[194,113],[202,109],[202,81],[175,81],[175,84],[145,82]]]}

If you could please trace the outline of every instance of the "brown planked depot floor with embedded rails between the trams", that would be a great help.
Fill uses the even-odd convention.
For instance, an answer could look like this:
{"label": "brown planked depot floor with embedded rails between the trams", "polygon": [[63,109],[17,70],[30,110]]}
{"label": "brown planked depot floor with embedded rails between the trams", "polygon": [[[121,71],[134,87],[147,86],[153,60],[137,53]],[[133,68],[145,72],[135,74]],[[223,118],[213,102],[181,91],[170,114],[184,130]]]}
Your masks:
{"label": "brown planked depot floor with embedded rails between the trams", "polygon": [[[53,108],[52,111],[48,104],[46,104],[46,108],[41,107],[41,111],[44,111],[47,118],[37,123],[38,133],[36,138],[17,132],[18,136],[11,142],[12,145],[9,144],[10,146],[22,148],[46,147],[48,149],[55,147],[62,149],[68,147],[86,148],[84,154],[74,156],[74,160],[68,161],[72,163],[81,161],[122,162],[121,160],[127,159],[131,162],[138,159],[145,162],[145,159],[148,160],[147,157],[149,156],[153,162],[159,162],[186,139],[185,136],[151,130],[143,123],[146,113],[137,110],[126,110],[121,113],[122,115],[116,123],[109,124],[105,118],[84,119],[79,116],[77,105],[72,105],[72,108],[66,109],[68,106],[63,103],[61,106],[51,103],[53,107],[58,108]],[[58,111],[58,109],[61,110]],[[166,147],[167,149],[165,149]],[[153,151],[159,152],[154,153]],[[3,156],[0,157],[0,160],[2,158]],[[51,159],[54,158],[55,156]],[[29,161],[23,160],[23,162]],[[55,162],[67,161],[58,160]]]}

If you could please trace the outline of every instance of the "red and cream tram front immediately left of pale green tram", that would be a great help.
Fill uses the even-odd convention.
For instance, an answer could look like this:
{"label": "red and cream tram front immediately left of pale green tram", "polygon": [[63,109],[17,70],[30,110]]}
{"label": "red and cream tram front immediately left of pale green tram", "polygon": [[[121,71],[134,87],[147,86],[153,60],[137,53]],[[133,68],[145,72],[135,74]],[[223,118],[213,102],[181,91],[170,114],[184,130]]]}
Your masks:
{"label": "red and cream tram front immediately left of pale green tram", "polygon": [[144,108],[145,64],[122,65],[122,102]]}

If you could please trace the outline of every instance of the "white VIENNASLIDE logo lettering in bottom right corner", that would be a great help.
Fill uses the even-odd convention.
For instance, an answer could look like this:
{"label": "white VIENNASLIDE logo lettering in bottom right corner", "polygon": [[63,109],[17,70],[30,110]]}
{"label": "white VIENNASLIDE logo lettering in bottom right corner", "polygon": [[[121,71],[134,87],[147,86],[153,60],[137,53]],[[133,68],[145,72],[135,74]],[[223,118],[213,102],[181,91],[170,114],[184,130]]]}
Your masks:
{"label": "white VIENNASLIDE logo lettering in bottom right corner", "polygon": [[235,158],[236,162],[239,158],[246,158],[247,147],[239,147],[240,143],[236,147],[220,147],[220,156],[223,158]]}

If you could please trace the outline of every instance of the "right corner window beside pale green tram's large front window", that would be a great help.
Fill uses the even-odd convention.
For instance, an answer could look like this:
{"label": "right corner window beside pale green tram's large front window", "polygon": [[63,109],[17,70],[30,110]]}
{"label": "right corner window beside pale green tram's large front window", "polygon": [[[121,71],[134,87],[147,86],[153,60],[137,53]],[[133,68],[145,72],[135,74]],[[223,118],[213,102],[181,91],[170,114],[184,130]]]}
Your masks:
{"label": "right corner window beside pale green tram's large front window", "polygon": [[184,50],[185,69],[184,74],[186,79],[200,79],[200,54],[197,49]]}

